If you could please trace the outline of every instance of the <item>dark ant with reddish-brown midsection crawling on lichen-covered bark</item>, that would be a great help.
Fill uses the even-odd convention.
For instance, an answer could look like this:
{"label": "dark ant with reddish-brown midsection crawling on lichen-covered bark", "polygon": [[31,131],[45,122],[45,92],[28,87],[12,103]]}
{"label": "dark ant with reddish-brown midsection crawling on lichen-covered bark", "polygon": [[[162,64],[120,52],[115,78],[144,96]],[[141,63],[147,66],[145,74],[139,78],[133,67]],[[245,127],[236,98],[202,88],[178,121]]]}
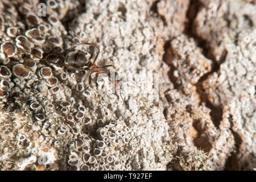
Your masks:
{"label": "dark ant with reddish-brown midsection crawling on lichen-covered bark", "polygon": [[[83,44],[92,46],[97,49],[96,56],[94,56],[94,58],[93,58],[94,49],[93,49],[93,52],[90,54],[89,58],[88,58],[88,56],[86,56],[86,53],[84,51],[81,51],[80,49],[78,49],[76,51],[71,51],[68,53],[67,56],[65,56],[64,61],[61,61],[60,58],[54,54],[47,55],[45,59],[42,59],[33,54],[32,55],[35,56],[36,58],[40,59],[40,61],[43,61],[44,63],[46,63],[50,66],[51,66],[51,64],[55,64],[55,65],[60,65],[61,67],[64,66],[64,67],[73,69],[75,71],[90,71],[89,84],[88,84],[88,86],[86,86],[85,90],[88,89],[90,86],[92,73],[96,73],[96,78],[98,78],[98,76],[108,77],[110,84],[112,84],[115,87],[115,91],[117,90],[116,86],[118,84],[121,88],[122,78],[119,77],[117,72],[115,72],[115,71],[110,72],[109,69],[107,69],[107,67],[114,67],[113,65],[104,65],[102,67],[99,67],[95,64],[98,54],[100,53],[100,49],[95,44],[92,44],[92,43],[80,43],[80,44],[76,44],[75,46],[79,46],[79,45],[83,45]],[[132,82],[132,83],[134,85],[136,85],[134,82]],[[97,85],[97,82],[96,82],[96,85]],[[114,94],[116,96],[118,96],[118,94],[116,92],[114,92]],[[121,94],[121,89],[119,90],[119,94],[122,98],[123,104],[126,107],[125,100],[123,99],[122,94]]]}

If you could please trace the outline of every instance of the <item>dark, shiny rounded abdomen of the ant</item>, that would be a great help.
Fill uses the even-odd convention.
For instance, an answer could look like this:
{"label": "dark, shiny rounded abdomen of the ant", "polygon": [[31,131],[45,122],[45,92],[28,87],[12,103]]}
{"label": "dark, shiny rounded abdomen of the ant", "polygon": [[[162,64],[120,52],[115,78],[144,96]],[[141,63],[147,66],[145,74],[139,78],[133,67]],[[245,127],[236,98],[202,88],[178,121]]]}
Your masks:
{"label": "dark, shiny rounded abdomen of the ant", "polygon": [[86,64],[88,64],[88,56],[85,52],[82,52],[80,50],[69,52],[67,57],[65,58],[65,64],[67,64],[70,67],[73,68],[82,68],[85,67]]}

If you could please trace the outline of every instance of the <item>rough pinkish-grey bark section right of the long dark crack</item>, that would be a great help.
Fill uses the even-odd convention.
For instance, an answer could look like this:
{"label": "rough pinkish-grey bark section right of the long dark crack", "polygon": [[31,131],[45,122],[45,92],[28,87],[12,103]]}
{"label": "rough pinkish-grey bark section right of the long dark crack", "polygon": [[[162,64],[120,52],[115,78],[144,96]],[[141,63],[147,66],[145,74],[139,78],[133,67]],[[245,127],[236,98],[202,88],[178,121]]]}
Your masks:
{"label": "rough pinkish-grey bark section right of the long dark crack", "polygon": [[[223,138],[214,143],[212,152],[220,159],[216,168],[224,165],[221,159],[228,158],[226,169],[253,169],[256,152],[255,5],[243,1],[216,3],[220,6],[216,18],[210,18],[201,10],[194,22],[196,34],[207,42],[208,52],[219,66],[202,82],[209,105],[220,108],[222,113],[219,113],[222,118],[218,125]],[[204,26],[201,16],[208,19]],[[231,146],[226,144],[228,140],[232,141]],[[220,146],[223,151],[229,151],[226,157],[218,155]]]}

